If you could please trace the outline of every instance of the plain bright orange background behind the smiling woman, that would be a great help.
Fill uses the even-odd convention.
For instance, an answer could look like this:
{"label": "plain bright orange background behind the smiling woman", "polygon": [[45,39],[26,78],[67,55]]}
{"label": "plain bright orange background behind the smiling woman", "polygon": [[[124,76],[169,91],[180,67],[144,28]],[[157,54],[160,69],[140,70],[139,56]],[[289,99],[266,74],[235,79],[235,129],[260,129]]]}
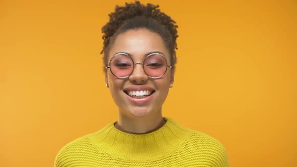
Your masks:
{"label": "plain bright orange background behind the smiling woman", "polygon": [[[124,2],[0,1],[0,166],[53,166],[117,119],[99,53]],[[164,116],[218,139],[231,166],[297,166],[296,1],[149,2],[179,25]]]}

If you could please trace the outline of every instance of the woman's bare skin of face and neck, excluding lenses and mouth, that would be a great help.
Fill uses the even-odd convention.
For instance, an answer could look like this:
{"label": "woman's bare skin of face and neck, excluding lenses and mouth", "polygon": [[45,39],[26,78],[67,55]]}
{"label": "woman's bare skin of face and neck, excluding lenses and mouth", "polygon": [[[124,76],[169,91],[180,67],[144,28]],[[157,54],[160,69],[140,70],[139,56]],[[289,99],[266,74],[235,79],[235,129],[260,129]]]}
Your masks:
{"label": "woman's bare skin of face and neck, excluding lenses and mouth", "polygon": [[[164,53],[170,63],[170,52],[159,34],[144,28],[128,30],[116,37],[109,50],[108,62],[118,52],[131,54],[134,62],[143,62],[144,55],[152,51]],[[155,131],[165,124],[162,105],[168,95],[169,86],[174,81],[174,72],[171,68],[158,79],[148,77],[141,65],[136,65],[133,73],[124,79],[115,77],[110,70],[107,70],[105,80],[118,106],[118,121],[115,124],[117,129],[127,133],[142,134]],[[155,89],[155,96],[145,104],[132,103],[123,89],[138,85]]]}

